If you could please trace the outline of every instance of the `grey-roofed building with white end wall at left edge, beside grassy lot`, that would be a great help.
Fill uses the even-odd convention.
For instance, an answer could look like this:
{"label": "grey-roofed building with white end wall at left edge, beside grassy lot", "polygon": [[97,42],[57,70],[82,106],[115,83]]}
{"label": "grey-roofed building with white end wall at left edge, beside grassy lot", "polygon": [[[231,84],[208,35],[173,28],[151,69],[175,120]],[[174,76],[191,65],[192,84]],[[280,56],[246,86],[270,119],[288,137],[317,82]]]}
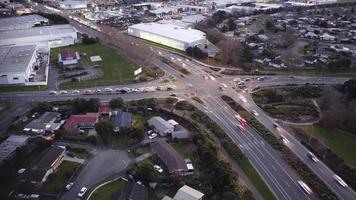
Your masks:
{"label": "grey-roofed building with white end wall at left edge, beside grassy lot", "polygon": [[36,45],[0,47],[0,84],[30,82],[36,61]]}

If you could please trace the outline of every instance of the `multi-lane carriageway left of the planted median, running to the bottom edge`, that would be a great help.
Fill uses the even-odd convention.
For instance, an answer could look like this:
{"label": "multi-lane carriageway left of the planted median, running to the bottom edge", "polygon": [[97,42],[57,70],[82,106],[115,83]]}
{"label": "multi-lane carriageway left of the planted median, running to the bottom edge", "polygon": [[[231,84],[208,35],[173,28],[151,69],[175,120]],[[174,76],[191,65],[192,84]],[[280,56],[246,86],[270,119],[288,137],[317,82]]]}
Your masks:
{"label": "multi-lane carriageway left of the planted median, running to the bottom edge", "polygon": [[[270,173],[270,176],[272,176],[270,177],[270,179],[277,182],[276,187],[279,186],[279,188],[282,188],[281,190],[283,192],[284,190],[286,190],[285,187],[287,186],[288,191],[285,192],[287,195],[283,195],[283,198],[317,199],[315,195],[308,196],[301,190],[301,188],[296,182],[296,180],[301,180],[301,178],[287,163],[285,163],[283,159],[279,158],[279,156],[276,156],[278,153],[272,147],[270,147],[268,144],[266,145],[265,143],[261,143],[263,142],[263,138],[261,138],[257,132],[252,132],[253,129],[247,129],[247,132],[242,133],[239,128],[237,128],[238,122],[234,119],[234,115],[228,114],[232,112],[232,110],[230,110],[229,108],[225,109],[226,107],[223,106],[221,103],[215,104],[214,107],[220,107],[224,109],[223,112],[219,113],[218,109],[215,110],[214,113],[218,113],[223,121],[230,123],[230,125],[232,126],[230,127],[232,129],[232,135],[237,137],[240,142],[243,141],[243,146],[248,146],[247,150],[250,150],[249,153],[256,154],[255,159],[257,159],[257,162],[260,161],[263,163],[264,166],[262,170],[267,170],[266,173]],[[239,145],[241,145],[241,143]],[[261,151],[261,149],[263,149],[263,151]]]}

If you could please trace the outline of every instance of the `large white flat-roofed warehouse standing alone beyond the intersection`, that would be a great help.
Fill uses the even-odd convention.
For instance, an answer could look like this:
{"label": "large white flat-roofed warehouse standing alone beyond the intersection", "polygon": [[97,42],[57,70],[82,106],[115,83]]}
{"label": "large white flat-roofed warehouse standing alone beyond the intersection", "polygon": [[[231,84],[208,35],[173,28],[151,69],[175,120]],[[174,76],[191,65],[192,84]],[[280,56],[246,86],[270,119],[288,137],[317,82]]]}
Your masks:
{"label": "large white flat-roofed warehouse standing alone beyond the intersection", "polygon": [[188,47],[205,48],[206,35],[196,29],[172,24],[141,23],[128,28],[128,34],[185,51]]}

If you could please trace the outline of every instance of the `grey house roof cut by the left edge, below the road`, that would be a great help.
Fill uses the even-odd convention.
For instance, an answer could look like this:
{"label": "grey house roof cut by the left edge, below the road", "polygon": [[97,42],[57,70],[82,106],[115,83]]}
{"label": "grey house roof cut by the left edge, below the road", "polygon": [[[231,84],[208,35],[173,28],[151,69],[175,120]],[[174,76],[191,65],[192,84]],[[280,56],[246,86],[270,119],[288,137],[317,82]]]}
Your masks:
{"label": "grey house roof cut by the left edge, below the road", "polygon": [[4,161],[16,148],[26,144],[28,136],[11,135],[0,144],[0,163]]}

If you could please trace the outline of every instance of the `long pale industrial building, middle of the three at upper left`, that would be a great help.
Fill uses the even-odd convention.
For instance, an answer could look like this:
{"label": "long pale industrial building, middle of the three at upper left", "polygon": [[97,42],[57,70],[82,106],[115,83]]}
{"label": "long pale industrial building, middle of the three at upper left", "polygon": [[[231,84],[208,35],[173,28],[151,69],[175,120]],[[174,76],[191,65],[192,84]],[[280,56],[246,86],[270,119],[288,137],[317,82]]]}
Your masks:
{"label": "long pale industrial building, middle of the three at upper left", "polygon": [[0,32],[1,45],[48,43],[50,48],[55,48],[73,45],[77,39],[77,29],[69,24]]}

